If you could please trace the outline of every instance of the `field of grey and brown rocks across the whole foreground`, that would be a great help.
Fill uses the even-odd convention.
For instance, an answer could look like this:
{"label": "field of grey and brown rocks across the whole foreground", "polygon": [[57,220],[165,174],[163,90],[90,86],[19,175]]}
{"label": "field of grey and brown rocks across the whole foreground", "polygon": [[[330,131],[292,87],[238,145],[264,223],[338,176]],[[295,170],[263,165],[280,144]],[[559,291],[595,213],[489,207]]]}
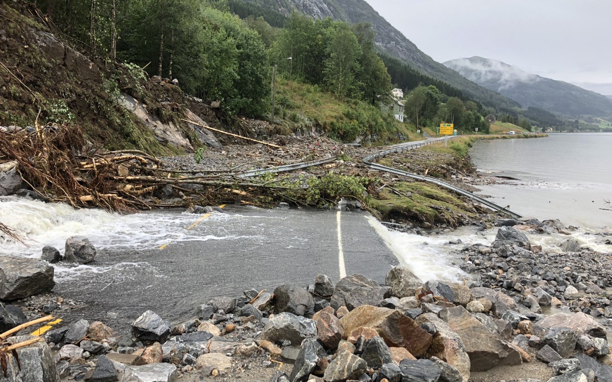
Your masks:
{"label": "field of grey and brown rocks across the whole foreground", "polygon": [[[597,263],[607,255],[567,241],[559,248],[559,256],[565,254],[560,261],[523,233],[566,232],[558,221],[496,223],[500,228],[491,246],[463,249],[463,268],[476,281],[424,282],[396,266],[384,284],[360,274],[334,284],[319,274],[305,287],[285,284],[214,298],[177,325],[151,310],[132,323],[130,332],[115,332],[100,321],[60,322],[41,330],[45,342],[6,355],[6,378],[467,382],[472,373],[477,380],[498,381],[487,379],[487,373],[511,367],[516,381],[608,380],[612,356],[603,324],[612,306],[603,288],[610,274]],[[92,252],[95,256],[84,238],[70,238],[66,245],[75,262]],[[53,248],[43,252],[57,260]],[[25,277],[53,267],[29,261],[32,265],[21,268],[18,277],[7,274],[0,288],[10,290],[7,285],[21,279],[50,290],[52,284]],[[34,269],[34,262],[43,268]],[[44,292],[33,286],[20,290],[21,295],[9,298],[14,304],[0,304],[4,331],[44,314],[61,317],[75,304],[33,296]],[[542,309],[551,306],[557,310],[543,315]],[[35,338],[27,336],[33,329],[8,342]]]}

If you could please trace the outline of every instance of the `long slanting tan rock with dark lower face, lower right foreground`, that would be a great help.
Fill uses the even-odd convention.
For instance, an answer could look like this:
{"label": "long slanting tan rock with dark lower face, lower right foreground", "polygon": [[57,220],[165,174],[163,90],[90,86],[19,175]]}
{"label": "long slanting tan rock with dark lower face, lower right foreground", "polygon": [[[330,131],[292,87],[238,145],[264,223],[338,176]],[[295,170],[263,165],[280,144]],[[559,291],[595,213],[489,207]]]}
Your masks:
{"label": "long slanting tan rock with dark lower face, lower right foreground", "polygon": [[521,364],[521,354],[498,339],[463,306],[443,309],[440,318],[456,332],[468,353],[472,372],[491,369],[496,365]]}

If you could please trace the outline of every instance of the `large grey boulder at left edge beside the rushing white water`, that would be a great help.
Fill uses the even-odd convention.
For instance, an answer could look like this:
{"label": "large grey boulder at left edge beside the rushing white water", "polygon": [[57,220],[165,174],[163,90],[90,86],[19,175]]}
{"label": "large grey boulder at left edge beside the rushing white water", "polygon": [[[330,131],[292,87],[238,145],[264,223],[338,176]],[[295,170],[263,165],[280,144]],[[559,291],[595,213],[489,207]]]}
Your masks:
{"label": "large grey boulder at left edge beside the rushing white water", "polygon": [[44,260],[0,256],[0,299],[51,292],[54,269]]}

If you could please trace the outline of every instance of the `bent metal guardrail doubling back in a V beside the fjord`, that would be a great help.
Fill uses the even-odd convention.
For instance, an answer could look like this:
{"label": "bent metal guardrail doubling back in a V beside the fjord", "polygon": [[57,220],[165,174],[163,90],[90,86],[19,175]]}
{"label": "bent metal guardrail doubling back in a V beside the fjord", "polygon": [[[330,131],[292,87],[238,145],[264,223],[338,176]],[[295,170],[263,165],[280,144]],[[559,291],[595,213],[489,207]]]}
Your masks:
{"label": "bent metal guardrail doubling back in a V beside the fjord", "polygon": [[434,138],[434,139],[427,139],[425,141],[416,141],[416,142],[408,142],[408,143],[403,143],[403,144],[391,145],[389,146],[390,149],[378,152],[374,155],[370,155],[364,158],[364,164],[370,167],[371,169],[375,169],[378,171],[386,171],[386,172],[390,172],[391,174],[401,175],[401,176],[405,176],[405,177],[409,177],[409,178],[413,178],[417,180],[422,180],[424,182],[434,183],[438,186],[455,191],[455,193],[461,194],[465,197],[468,197],[469,199],[476,200],[480,204],[486,205],[488,208],[491,208],[491,210],[493,211],[505,213],[506,215],[512,216],[512,218],[520,219],[521,215],[518,215],[517,213],[514,213],[512,211],[506,210],[506,207],[501,207],[500,205],[494,204],[490,200],[484,199],[483,197],[480,197],[476,194],[472,194],[469,191],[465,191],[465,189],[461,189],[449,183],[442,182],[442,180],[425,177],[423,175],[412,174],[411,172],[401,171],[398,169],[394,169],[393,167],[387,167],[387,166],[383,166],[382,164],[371,162],[372,160],[374,160],[375,158],[378,158],[379,156],[387,155],[390,153],[396,153],[400,151],[405,151],[405,150],[417,149],[418,147],[434,144],[437,142],[443,142],[443,141],[446,141],[447,139],[453,139],[453,138],[455,137]]}

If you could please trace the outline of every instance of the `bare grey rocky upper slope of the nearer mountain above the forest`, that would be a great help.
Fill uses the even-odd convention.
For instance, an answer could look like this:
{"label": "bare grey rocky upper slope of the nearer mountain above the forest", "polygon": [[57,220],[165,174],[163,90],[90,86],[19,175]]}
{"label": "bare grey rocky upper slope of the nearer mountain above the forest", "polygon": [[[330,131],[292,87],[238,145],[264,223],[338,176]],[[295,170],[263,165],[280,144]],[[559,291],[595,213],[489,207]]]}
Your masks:
{"label": "bare grey rocky upper slope of the nearer mountain above the forest", "polygon": [[378,14],[364,0],[232,0],[256,4],[263,9],[271,9],[283,15],[293,10],[322,19],[330,17],[348,23],[367,21],[376,32],[376,45],[392,57],[398,57],[418,72],[446,82],[460,89],[463,94],[480,101],[483,105],[496,108],[518,107],[518,103],[501,94],[485,89],[461,76],[454,70],[434,61],[423,53],[414,43]]}

